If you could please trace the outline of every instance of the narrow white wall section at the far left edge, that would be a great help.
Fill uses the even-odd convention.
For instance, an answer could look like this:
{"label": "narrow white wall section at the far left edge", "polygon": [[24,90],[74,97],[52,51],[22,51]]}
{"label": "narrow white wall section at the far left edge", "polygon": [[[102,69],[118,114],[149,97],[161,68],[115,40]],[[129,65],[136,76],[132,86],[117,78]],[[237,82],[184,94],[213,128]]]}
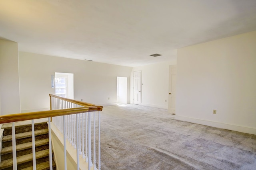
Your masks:
{"label": "narrow white wall section at the far left edge", "polygon": [[2,115],[20,113],[18,43],[0,39],[0,93]]}

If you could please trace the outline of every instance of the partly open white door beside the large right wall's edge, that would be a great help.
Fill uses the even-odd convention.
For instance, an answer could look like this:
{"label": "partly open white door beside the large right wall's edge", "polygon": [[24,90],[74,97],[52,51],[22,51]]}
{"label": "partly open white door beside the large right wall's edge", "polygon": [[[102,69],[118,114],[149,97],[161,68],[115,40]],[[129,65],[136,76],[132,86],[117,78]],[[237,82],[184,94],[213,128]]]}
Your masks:
{"label": "partly open white door beside the large right wall's edge", "polygon": [[175,114],[176,106],[176,65],[169,66],[169,99],[168,112]]}

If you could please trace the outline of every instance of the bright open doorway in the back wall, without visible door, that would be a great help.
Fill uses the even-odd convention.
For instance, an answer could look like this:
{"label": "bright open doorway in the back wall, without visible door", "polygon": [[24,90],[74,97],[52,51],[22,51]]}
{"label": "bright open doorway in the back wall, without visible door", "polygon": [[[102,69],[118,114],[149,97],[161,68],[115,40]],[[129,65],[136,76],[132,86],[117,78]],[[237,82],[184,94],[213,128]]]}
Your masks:
{"label": "bright open doorway in the back wall, without visible door", "polygon": [[127,77],[117,77],[116,94],[118,104],[127,104]]}

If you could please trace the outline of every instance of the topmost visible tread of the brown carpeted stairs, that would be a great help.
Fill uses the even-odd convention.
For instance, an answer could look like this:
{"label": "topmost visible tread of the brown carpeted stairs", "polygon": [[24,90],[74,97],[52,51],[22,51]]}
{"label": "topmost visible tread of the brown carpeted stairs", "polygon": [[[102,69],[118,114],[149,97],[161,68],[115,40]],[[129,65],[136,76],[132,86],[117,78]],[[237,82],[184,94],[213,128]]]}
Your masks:
{"label": "topmost visible tread of the brown carpeted stairs", "polygon": [[[47,134],[47,133],[48,133],[48,129],[40,129],[40,130],[35,131],[35,136],[43,135],[43,134]],[[32,137],[32,132],[30,131],[30,132],[15,134],[16,140],[26,138],[26,137]],[[7,136],[3,137],[2,142],[7,142],[7,141],[12,141],[12,135],[7,135]]]}

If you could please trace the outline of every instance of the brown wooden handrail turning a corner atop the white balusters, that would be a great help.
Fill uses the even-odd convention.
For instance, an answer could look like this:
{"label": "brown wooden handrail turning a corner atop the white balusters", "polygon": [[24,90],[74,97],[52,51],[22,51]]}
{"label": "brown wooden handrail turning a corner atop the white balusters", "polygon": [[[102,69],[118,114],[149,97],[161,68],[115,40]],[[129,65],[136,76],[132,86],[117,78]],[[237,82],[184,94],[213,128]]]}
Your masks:
{"label": "brown wooden handrail turning a corner atop the white balusters", "polygon": [[17,122],[17,121],[25,121],[25,120],[32,120],[32,119],[62,116],[62,115],[72,115],[76,113],[85,113],[85,112],[91,112],[91,111],[102,111],[102,108],[103,108],[103,106],[96,106],[94,104],[62,98],[60,96],[55,96],[53,94],[50,94],[50,98],[52,96],[55,98],[59,98],[61,100],[72,102],[74,104],[79,104],[84,107],[48,110],[48,111],[36,111],[36,112],[29,112],[29,113],[16,113],[16,114],[10,114],[10,115],[0,115],[0,123],[11,123],[11,122]]}

